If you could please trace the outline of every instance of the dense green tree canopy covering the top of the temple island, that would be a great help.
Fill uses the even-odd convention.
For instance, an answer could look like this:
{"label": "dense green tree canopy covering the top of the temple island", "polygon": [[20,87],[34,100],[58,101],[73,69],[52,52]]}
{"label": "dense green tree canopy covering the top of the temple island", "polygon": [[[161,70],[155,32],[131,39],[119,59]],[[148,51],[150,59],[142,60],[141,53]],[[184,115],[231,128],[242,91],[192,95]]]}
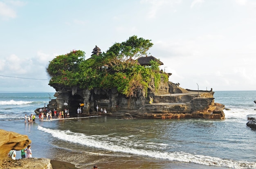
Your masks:
{"label": "dense green tree canopy covering the top of the temple island", "polygon": [[134,35],[126,42],[113,44],[106,53],[94,54],[86,60],[81,50],[56,56],[46,68],[51,77],[49,85],[88,89],[116,87],[127,97],[136,97],[137,90],[147,91],[152,76],[156,79],[155,85],[159,83],[157,61],[151,61],[152,66],[137,64],[137,59],[153,46],[150,41]]}

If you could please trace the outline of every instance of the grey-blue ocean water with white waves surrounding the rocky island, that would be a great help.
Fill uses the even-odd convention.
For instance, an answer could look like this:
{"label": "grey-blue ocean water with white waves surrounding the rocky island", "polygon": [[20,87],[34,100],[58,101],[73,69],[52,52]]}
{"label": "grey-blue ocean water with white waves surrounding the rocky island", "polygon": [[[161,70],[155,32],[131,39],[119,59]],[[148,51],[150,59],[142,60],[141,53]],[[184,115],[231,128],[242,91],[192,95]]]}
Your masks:
{"label": "grey-blue ocean water with white waves surrounding the rocky island", "polygon": [[[225,120],[132,119],[110,116],[24,123],[54,93],[0,93],[0,128],[31,139],[32,157],[79,169],[256,169],[256,91],[215,91]],[[20,158],[20,151],[17,151]]]}

